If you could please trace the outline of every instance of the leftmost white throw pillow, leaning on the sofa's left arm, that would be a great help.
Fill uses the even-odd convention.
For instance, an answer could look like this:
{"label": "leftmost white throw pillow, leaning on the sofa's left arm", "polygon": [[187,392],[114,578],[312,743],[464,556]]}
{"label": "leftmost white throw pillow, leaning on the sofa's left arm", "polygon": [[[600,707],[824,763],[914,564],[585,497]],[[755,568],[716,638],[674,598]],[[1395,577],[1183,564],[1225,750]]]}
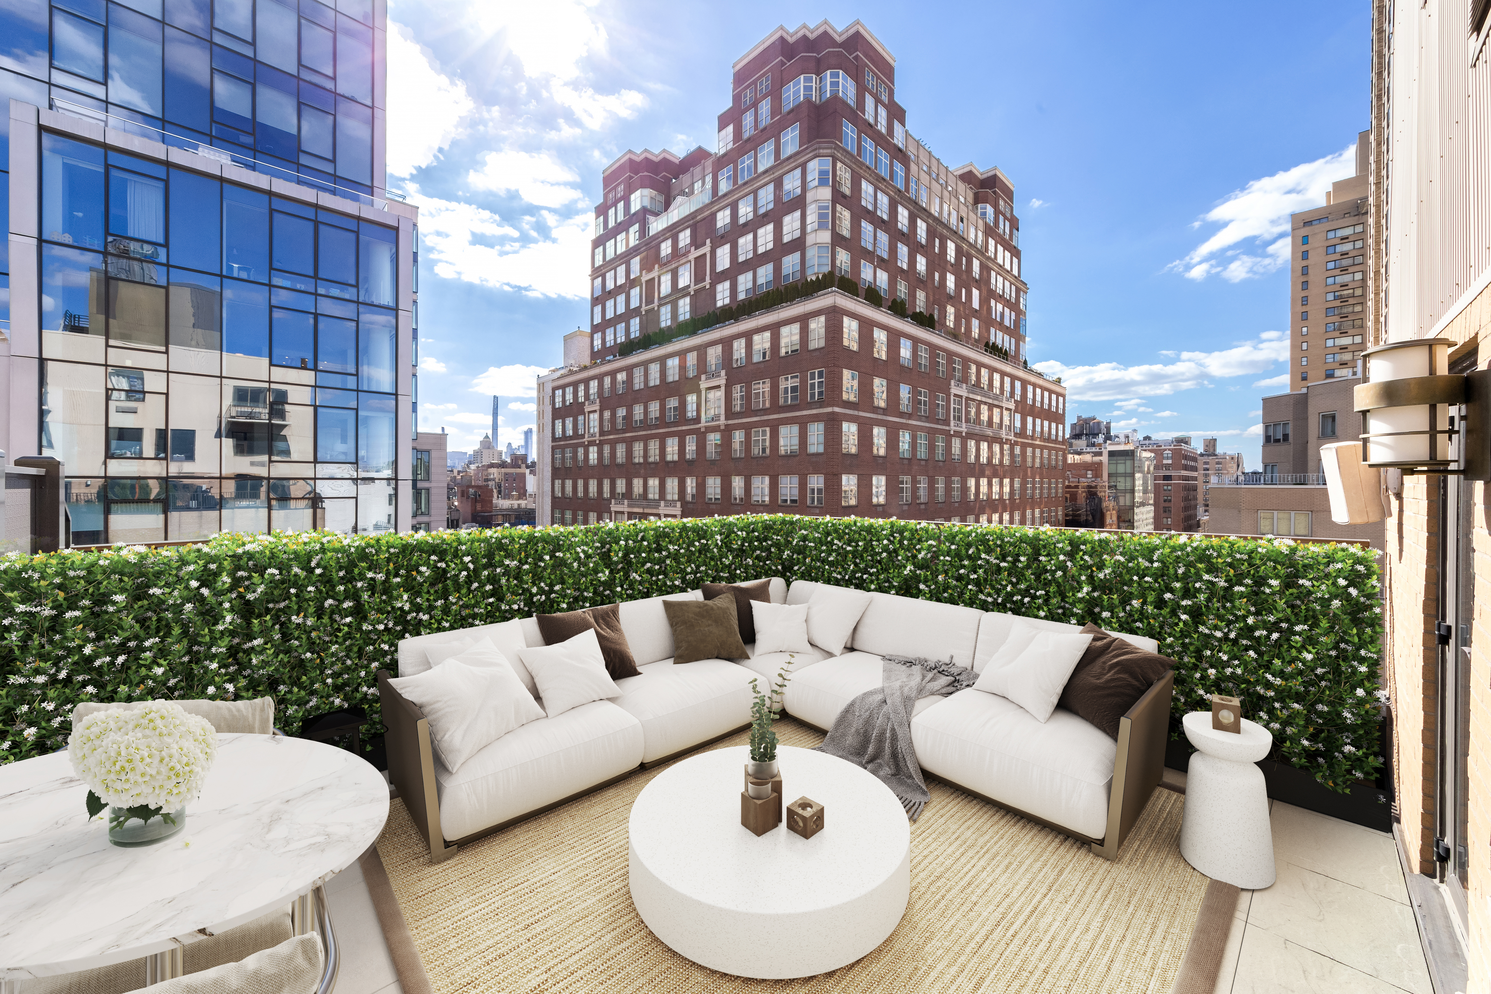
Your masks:
{"label": "leftmost white throw pillow, leaning on the sofa's left arm", "polygon": [[425,712],[431,745],[452,773],[513,729],[544,717],[489,639],[434,669],[389,684]]}

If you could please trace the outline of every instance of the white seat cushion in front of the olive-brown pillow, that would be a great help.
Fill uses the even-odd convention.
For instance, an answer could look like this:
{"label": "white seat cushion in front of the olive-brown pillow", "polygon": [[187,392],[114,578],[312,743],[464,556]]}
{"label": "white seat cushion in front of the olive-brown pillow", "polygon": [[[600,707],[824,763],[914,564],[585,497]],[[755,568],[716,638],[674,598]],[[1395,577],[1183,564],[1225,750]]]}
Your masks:
{"label": "white seat cushion in front of the olive-brown pillow", "polygon": [[[756,674],[723,659],[674,665],[672,659],[637,668],[616,681],[613,703],[643,726],[643,763],[708,742],[750,723],[750,681]],[[765,693],[765,688],[762,688]]]}

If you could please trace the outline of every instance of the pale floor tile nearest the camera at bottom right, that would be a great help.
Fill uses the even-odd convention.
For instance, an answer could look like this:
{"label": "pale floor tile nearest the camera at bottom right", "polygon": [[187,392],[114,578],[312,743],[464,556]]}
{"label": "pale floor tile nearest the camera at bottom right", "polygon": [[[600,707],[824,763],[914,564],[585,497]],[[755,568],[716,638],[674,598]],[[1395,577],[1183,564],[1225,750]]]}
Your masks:
{"label": "pale floor tile nearest the camera at bottom right", "polygon": [[1266,930],[1402,990],[1433,994],[1408,905],[1279,861],[1273,887],[1252,894],[1248,924],[1245,951],[1254,931]]}

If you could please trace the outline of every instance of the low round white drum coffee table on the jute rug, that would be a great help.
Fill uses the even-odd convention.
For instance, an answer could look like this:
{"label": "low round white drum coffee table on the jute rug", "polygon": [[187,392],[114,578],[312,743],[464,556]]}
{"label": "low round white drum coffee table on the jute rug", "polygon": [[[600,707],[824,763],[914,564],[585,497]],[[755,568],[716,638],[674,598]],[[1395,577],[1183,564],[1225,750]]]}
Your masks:
{"label": "low round white drum coffee table on the jute rug", "polygon": [[823,805],[811,839],[741,826],[748,748],[663,770],[632,803],[632,902],[671,949],[722,973],[836,970],[884,942],[911,894],[911,827],[890,788],[835,756],[781,747],[784,803]]}

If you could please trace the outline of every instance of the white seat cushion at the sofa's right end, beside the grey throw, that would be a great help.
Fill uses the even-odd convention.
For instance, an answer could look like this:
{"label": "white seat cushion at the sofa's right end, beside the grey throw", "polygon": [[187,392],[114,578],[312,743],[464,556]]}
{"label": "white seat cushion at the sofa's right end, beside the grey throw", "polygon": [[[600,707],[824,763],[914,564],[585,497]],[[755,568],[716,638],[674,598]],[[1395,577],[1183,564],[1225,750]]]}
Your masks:
{"label": "white seat cushion at the sofa's right end, beside the grey throw", "polygon": [[911,744],[930,773],[1091,839],[1108,830],[1118,744],[1071,711],[1042,724],[1012,700],[960,690],[911,720]]}

